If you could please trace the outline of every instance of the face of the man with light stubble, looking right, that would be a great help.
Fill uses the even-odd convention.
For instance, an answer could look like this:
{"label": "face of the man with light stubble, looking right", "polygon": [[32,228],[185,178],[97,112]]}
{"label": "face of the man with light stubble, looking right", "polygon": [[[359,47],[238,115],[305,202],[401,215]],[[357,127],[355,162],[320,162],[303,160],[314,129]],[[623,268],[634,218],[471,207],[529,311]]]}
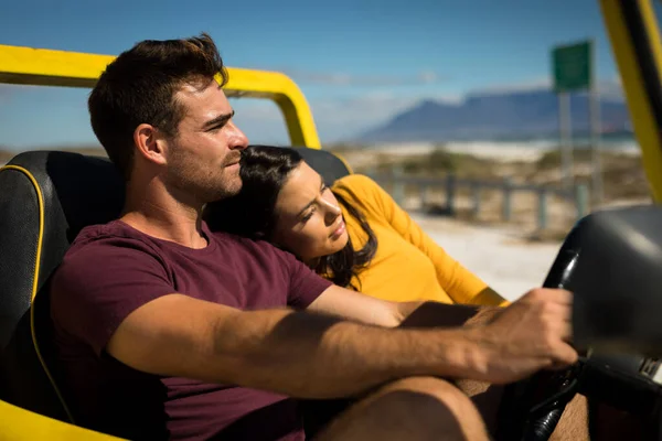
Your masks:
{"label": "face of the man with light stubble, looking right", "polygon": [[239,158],[248,139],[234,125],[223,90],[211,80],[202,88],[185,85],[174,97],[184,117],[168,140],[167,184],[203,204],[238,193]]}

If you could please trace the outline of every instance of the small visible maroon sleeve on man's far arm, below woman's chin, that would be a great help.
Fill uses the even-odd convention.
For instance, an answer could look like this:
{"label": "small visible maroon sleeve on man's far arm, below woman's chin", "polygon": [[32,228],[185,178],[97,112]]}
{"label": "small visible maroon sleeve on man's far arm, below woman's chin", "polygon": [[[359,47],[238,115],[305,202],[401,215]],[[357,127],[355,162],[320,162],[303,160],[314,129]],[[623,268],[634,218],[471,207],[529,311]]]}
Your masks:
{"label": "small visible maroon sleeve on man's far arm, below woman's chin", "polygon": [[289,278],[289,290],[287,294],[287,304],[297,310],[308,308],[322,292],[333,283],[303,262],[298,260],[292,254],[275,249],[285,267],[286,277]]}

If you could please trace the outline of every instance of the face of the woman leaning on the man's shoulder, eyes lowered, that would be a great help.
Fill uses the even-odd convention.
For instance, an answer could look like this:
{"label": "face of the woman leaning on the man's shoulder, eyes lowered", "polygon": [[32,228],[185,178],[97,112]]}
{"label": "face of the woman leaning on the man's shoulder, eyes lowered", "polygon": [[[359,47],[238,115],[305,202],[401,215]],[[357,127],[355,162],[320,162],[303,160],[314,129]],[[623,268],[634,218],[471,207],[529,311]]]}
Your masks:
{"label": "face of the woman leaning on the man's shoulder, eyes lowered", "polygon": [[280,189],[275,215],[274,241],[303,261],[332,255],[348,243],[338,200],[303,161]]}

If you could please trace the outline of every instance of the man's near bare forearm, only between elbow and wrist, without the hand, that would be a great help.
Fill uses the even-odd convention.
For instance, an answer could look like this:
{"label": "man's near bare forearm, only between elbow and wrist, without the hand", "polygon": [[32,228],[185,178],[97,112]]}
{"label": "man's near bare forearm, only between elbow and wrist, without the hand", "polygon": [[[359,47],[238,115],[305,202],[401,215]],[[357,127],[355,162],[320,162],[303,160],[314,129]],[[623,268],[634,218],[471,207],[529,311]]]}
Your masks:
{"label": "man's near bare forearm, only between elbow and wrist, without the hand", "polygon": [[476,345],[459,329],[386,330],[305,312],[243,312],[216,329],[222,378],[300,398],[363,392],[412,375],[463,376]]}

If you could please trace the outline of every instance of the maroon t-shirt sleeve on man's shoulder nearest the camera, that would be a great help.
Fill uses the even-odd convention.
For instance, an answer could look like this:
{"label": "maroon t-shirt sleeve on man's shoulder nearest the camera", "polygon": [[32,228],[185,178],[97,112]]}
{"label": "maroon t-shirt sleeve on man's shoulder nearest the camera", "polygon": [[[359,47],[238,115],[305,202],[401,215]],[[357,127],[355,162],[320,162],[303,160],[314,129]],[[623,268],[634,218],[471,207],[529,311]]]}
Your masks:
{"label": "maroon t-shirt sleeve on man's shoulder nearest the camera", "polygon": [[174,292],[158,252],[136,239],[87,244],[66,256],[51,284],[55,325],[97,355],[139,306]]}

